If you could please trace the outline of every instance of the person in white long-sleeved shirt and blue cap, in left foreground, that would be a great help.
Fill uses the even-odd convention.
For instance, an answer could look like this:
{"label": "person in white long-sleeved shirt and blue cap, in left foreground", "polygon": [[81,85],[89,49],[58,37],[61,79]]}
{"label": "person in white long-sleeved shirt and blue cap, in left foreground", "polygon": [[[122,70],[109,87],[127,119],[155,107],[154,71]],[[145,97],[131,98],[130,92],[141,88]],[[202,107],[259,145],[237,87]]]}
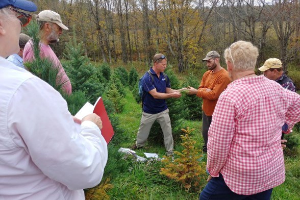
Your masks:
{"label": "person in white long-sleeved shirt and blue cap, in left foreground", "polygon": [[82,200],[107,162],[101,119],[87,115],[78,131],[59,92],[5,59],[19,51],[21,26],[30,21],[21,10],[36,9],[0,1],[0,199]]}

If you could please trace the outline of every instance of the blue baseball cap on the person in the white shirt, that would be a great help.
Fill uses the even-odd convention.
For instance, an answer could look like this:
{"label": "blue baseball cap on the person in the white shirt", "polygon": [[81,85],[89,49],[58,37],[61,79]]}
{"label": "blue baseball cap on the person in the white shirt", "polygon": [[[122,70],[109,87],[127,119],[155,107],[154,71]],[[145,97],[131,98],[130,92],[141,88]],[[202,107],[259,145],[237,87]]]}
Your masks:
{"label": "blue baseball cap on the person in the white shirt", "polygon": [[20,10],[29,11],[29,12],[34,12],[37,10],[37,6],[33,2],[26,1],[26,0],[1,0],[0,1],[0,9],[7,6],[13,6]]}

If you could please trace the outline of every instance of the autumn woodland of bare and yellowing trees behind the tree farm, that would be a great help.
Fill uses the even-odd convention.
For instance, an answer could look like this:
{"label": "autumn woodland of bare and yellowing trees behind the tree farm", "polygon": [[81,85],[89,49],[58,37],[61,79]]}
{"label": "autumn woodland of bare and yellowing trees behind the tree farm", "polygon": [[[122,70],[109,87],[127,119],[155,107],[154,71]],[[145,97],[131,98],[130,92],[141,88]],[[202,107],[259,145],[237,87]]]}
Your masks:
{"label": "autumn woodland of bare and yellowing trees behind the tree farm", "polygon": [[298,65],[300,11],[297,0],[34,0],[38,12],[59,13],[70,28],[55,46],[61,56],[72,30],[95,62],[151,65],[163,53],[179,72],[202,66],[215,50],[222,55],[237,40],[259,48],[257,66],[282,60]]}

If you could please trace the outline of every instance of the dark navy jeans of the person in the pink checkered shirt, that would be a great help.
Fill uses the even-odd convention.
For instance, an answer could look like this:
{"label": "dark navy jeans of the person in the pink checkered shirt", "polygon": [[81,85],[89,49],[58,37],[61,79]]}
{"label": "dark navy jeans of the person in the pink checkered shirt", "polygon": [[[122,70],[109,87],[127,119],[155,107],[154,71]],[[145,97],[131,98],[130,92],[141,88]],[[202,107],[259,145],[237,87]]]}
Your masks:
{"label": "dark navy jeans of the person in the pink checkered shirt", "polygon": [[200,193],[199,200],[269,200],[271,198],[272,189],[273,188],[252,195],[236,194],[229,189],[222,174],[220,174],[219,177],[212,178],[208,182],[203,191]]}

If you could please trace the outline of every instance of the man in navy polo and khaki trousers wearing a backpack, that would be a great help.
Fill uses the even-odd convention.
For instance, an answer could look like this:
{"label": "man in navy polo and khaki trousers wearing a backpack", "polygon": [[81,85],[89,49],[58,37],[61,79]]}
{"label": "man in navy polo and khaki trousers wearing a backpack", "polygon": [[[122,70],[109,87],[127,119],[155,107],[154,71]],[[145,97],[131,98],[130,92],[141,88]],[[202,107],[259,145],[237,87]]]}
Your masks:
{"label": "man in navy polo and khaki trousers wearing a backpack", "polygon": [[[150,133],[150,129],[155,120],[160,124],[164,134],[166,155],[173,155],[173,137],[169,109],[166,98],[181,97],[181,90],[173,90],[170,87],[169,78],[163,74],[167,67],[167,59],[163,54],[156,54],[153,57],[153,67],[150,69],[152,76],[145,73],[142,79],[143,89],[146,91],[143,101],[143,113],[140,127],[137,133],[136,143],[133,149],[141,148],[145,145]],[[153,77],[153,78],[152,78]]]}

